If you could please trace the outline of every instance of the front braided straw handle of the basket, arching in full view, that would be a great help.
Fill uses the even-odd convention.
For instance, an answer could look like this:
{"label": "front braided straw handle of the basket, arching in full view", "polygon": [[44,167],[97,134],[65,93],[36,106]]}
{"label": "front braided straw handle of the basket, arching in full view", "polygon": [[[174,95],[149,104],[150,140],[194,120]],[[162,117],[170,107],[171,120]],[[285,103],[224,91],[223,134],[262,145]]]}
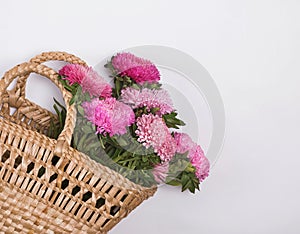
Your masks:
{"label": "front braided straw handle of the basket, arching in full view", "polygon": [[30,73],[37,73],[41,76],[47,77],[62,92],[62,96],[66,104],[67,116],[64,129],[58,137],[54,152],[57,156],[61,157],[63,155],[63,150],[70,146],[76,122],[76,109],[74,105],[70,106],[69,103],[72,98],[72,94],[65,90],[63,85],[59,82],[57,72],[55,72],[52,68],[37,63],[22,63],[17,65],[16,67],[7,71],[0,81],[0,101],[2,101],[5,91],[7,91],[7,87],[14,79],[17,77],[26,77],[27,79]]}

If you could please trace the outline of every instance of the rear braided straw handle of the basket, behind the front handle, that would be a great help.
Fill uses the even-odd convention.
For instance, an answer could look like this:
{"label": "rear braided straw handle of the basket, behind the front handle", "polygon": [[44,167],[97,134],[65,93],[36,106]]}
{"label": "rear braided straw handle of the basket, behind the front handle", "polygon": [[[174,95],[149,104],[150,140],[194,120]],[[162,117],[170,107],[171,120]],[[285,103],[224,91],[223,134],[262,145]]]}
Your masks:
{"label": "rear braided straw handle of the basket, behind the front handle", "polygon": [[[73,54],[69,54],[66,52],[60,52],[60,51],[55,51],[55,52],[44,52],[42,54],[39,54],[35,57],[33,57],[30,62],[33,63],[44,63],[47,61],[65,61],[68,63],[73,63],[73,64],[80,64],[83,66],[87,66],[87,64],[81,60],[80,58],[76,57]],[[28,76],[28,75],[27,75]],[[25,97],[25,87],[26,87],[26,80],[27,76],[20,76],[16,86],[15,86],[15,91],[20,90],[20,96]]]}

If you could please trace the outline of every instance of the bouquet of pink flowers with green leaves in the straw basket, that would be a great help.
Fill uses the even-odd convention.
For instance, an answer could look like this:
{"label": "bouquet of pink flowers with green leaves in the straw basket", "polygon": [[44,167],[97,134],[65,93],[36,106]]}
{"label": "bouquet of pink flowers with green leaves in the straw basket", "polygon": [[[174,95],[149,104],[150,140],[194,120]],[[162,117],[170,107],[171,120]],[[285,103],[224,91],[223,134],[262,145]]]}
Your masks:
{"label": "bouquet of pink flowers with green leaves in the straw basket", "polygon": [[[201,147],[177,129],[178,118],[160,72],[150,61],[118,53],[107,62],[113,87],[91,67],[68,64],[60,82],[72,93],[77,108],[72,147],[145,187],[166,183],[194,193],[209,174]],[[51,124],[56,138],[66,110],[56,101],[59,124]]]}

